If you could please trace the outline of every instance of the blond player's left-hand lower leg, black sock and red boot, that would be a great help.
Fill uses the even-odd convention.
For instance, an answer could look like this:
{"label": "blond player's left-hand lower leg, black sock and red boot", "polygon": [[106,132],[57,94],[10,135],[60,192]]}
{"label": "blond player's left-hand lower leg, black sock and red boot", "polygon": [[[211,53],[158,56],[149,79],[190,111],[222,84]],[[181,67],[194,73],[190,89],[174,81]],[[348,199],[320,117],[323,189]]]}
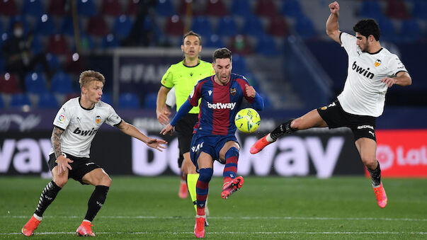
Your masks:
{"label": "blond player's left-hand lower leg, black sock and red boot", "polygon": [[[55,160],[53,160],[55,161]],[[56,181],[56,183],[55,183]],[[33,214],[33,217],[28,220],[28,222],[21,229],[22,234],[25,236],[33,235],[35,229],[37,229],[38,225],[42,221],[42,215],[49,207],[49,205],[55,200],[59,190],[64,187],[64,185],[68,181],[68,169],[65,172],[62,172],[61,175],[57,172],[57,166],[52,169],[52,181],[47,183],[45,188],[42,190],[42,194],[40,195],[40,200],[38,202],[37,208]]]}

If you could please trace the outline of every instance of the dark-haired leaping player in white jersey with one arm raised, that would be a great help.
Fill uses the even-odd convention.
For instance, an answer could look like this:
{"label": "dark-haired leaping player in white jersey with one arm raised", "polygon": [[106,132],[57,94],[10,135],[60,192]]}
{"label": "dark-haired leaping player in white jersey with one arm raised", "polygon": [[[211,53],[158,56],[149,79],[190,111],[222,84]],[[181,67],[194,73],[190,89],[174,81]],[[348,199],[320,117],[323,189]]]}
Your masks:
{"label": "dark-haired leaping player in white jersey with one arm raised", "polygon": [[380,164],[376,158],[375,118],[382,114],[387,88],[394,84],[411,85],[412,80],[399,57],[380,44],[380,28],[373,19],[364,19],[353,27],[355,36],[338,28],[339,5],[329,4],[331,14],[326,33],[340,43],[348,54],[348,75],[343,92],[330,105],[314,109],[300,118],[290,119],[251,147],[251,154],[260,152],[278,137],[311,127],[350,127],[355,146],[368,169],[377,204],[387,205],[382,187]]}

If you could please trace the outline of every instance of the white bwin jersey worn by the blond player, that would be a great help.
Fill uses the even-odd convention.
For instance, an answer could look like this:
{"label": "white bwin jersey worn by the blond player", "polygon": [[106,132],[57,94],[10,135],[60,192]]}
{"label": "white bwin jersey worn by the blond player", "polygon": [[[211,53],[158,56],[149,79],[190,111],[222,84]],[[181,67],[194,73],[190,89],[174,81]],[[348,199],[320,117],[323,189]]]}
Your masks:
{"label": "white bwin jersey worn by the blond player", "polygon": [[[64,130],[61,135],[61,151],[73,156],[89,157],[91,143],[103,122],[117,125],[122,119],[113,107],[98,101],[88,110],[80,105],[79,98],[72,98],[59,109],[53,125]],[[52,154],[53,148],[50,150]]]}

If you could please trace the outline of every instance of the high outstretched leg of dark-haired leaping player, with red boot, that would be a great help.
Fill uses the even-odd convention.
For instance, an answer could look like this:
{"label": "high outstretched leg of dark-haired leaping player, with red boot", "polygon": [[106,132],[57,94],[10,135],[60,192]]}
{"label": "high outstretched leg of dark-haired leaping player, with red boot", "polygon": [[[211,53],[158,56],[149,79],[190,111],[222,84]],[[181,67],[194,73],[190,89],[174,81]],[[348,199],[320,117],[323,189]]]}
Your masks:
{"label": "high outstretched leg of dark-haired leaping player, with red boot", "polygon": [[254,145],[252,145],[250,152],[251,154],[256,154],[260,152],[268,144],[275,142],[279,137],[283,135],[296,132],[297,130],[304,130],[311,127],[326,127],[326,122],[320,117],[317,109],[309,111],[309,113],[304,114],[300,118],[287,120],[283,122],[278,127],[275,128],[268,135],[258,139]]}

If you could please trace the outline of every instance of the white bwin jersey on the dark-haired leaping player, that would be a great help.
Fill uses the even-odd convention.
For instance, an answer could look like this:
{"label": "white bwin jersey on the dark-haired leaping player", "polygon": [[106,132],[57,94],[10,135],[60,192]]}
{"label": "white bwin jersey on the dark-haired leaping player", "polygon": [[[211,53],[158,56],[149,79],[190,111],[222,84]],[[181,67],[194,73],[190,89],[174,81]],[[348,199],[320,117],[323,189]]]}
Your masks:
{"label": "white bwin jersey on the dark-haired leaping player", "polygon": [[407,72],[404,64],[384,47],[370,54],[360,50],[355,36],[341,33],[340,39],[348,55],[346,84],[338,96],[343,110],[355,115],[380,116],[387,92],[387,84],[381,80]]}

